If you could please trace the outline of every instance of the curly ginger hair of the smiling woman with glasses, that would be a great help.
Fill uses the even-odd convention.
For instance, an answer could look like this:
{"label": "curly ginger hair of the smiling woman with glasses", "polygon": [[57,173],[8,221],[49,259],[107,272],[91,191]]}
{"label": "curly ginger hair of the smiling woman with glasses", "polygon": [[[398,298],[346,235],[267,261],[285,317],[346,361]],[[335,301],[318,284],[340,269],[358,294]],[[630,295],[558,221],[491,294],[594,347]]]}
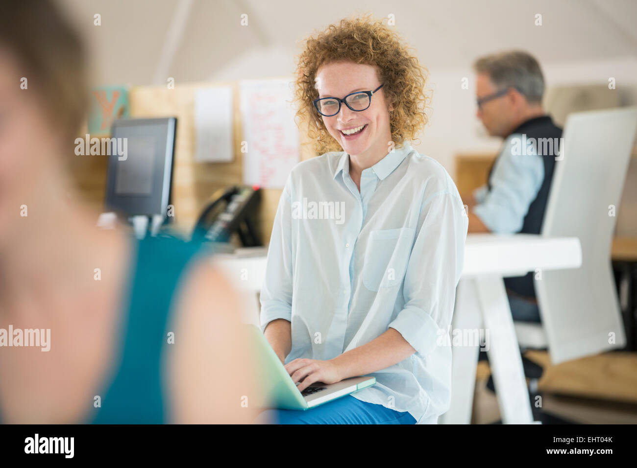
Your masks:
{"label": "curly ginger hair of the smiling woman with glasses", "polygon": [[296,117],[307,122],[315,151],[322,154],[343,150],[312,103],[318,97],[315,86],[318,69],[343,61],[376,67],[378,79],[385,84],[385,97],[394,107],[390,113],[394,145],[399,148],[404,141],[415,139],[428,120],[431,97],[425,92],[425,84],[429,73],[389,25],[383,24],[383,20],[371,22],[368,14],[329,25],[317,36],[306,39],[303,52],[297,56]]}

